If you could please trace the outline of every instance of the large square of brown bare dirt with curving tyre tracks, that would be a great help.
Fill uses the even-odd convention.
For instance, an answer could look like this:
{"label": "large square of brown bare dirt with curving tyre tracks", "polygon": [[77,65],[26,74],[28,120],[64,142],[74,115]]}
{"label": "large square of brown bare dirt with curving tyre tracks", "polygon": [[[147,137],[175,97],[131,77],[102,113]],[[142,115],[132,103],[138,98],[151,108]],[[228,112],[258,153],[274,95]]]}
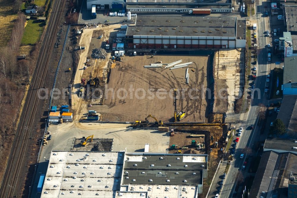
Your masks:
{"label": "large square of brown bare dirt with curving tyre tracks", "polygon": [[[182,60],[181,63],[194,62],[189,65],[189,84],[185,81],[187,67],[174,70],[143,67],[157,61],[171,63],[178,60]],[[153,114],[165,122],[173,121],[173,89],[176,88],[185,95],[177,95],[177,110],[186,112],[184,120],[203,121],[207,105],[200,89],[207,87],[207,61],[208,56],[124,56],[123,62],[117,62],[119,65],[110,72],[107,87],[114,90],[114,96],[108,91],[104,105],[92,109],[102,114],[102,120],[135,121]],[[198,91],[191,92],[191,88]],[[158,97],[157,90],[162,91],[161,97]]]}

